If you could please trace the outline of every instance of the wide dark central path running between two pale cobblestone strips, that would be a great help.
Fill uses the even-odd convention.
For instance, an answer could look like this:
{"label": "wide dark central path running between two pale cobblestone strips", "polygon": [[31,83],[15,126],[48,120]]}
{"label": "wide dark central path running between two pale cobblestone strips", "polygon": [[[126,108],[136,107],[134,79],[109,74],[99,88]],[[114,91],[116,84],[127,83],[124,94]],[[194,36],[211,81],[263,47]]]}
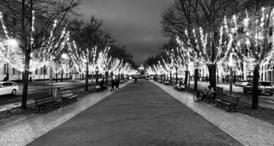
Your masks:
{"label": "wide dark central path running between two pale cobblestone strips", "polygon": [[129,84],[29,145],[241,145],[149,81]]}

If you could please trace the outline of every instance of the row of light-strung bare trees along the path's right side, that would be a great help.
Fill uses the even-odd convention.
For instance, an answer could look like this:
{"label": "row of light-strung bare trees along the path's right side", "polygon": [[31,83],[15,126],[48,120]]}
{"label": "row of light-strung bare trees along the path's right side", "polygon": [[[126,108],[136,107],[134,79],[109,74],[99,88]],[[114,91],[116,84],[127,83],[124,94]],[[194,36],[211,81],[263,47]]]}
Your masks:
{"label": "row of light-strung bare trees along the path's right side", "polygon": [[[199,69],[206,65],[210,85],[216,89],[216,71],[225,70],[228,56],[232,54],[230,56],[234,58],[232,65],[235,69],[241,69],[244,63],[251,66],[252,108],[258,108],[260,66],[273,66],[270,64],[273,61],[273,46],[269,47],[269,22],[273,19],[273,5],[273,1],[175,0],[162,12],[161,25],[162,33],[177,44],[166,45],[168,47],[165,49],[169,51],[166,51],[165,56],[156,56],[164,58],[156,64],[162,65],[167,71],[182,64],[186,77],[188,67],[192,66],[195,69],[195,88]],[[251,6],[259,9],[254,11],[250,9]],[[258,17],[260,19],[252,25],[254,18]]]}

